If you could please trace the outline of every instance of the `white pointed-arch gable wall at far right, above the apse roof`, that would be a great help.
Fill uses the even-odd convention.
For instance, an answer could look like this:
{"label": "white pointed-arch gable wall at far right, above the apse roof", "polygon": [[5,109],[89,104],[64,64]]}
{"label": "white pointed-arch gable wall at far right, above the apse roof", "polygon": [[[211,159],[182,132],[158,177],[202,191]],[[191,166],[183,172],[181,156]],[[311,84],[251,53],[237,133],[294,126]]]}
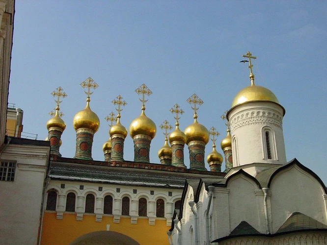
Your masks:
{"label": "white pointed-arch gable wall at far right, above the apse roof", "polygon": [[273,232],[294,212],[327,224],[322,186],[299,166],[293,165],[277,173],[271,182],[270,192]]}

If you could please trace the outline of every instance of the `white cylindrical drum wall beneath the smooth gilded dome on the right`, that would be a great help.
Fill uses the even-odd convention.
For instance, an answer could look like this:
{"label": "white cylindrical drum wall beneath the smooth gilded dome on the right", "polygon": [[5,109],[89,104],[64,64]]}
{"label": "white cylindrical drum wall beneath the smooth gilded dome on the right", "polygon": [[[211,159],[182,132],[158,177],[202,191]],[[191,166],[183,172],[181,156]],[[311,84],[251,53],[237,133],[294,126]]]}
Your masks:
{"label": "white cylindrical drum wall beneath the smooth gilded dome on the right", "polygon": [[[234,108],[229,114],[233,156],[234,152],[237,154],[233,167],[250,163],[285,164],[282,119],[283,109],[272,102],[250,102]],[[272,133],[272,159],[268,159],[265,154],[266,140],[263,129],[269,129]]]}

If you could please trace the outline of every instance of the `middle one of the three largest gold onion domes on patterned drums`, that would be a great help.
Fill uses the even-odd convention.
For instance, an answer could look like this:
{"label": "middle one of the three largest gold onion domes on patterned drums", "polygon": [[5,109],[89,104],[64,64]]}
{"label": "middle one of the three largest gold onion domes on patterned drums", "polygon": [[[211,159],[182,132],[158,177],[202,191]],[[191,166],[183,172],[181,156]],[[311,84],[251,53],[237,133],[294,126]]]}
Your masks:
{"label": "middle one of the three largest gold onion domes on patterned drums", "polygon": [[151,139],[156,136],[157,127],[156,124],[145,116],[144,110],[141,115],[134,119],[130,125],[130,136],[134,138],[136,135],[147,135]]}

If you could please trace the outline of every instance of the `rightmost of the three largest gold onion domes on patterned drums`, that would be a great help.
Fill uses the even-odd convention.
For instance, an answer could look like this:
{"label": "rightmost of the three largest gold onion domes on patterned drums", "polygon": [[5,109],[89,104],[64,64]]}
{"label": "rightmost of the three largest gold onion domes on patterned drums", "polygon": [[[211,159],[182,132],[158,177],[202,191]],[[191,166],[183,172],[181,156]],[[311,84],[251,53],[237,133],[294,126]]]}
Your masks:
{"label": "rightmost of the three largest gold onion domes on patterned drums", "polygon": [[185,129],[184,133],[186,135],[186,144],[189,144],[192,141],[201,141],[204,144],[208,144],[209,142],[208,129],[198,123],[196,118],[194,118],[194,123]]}

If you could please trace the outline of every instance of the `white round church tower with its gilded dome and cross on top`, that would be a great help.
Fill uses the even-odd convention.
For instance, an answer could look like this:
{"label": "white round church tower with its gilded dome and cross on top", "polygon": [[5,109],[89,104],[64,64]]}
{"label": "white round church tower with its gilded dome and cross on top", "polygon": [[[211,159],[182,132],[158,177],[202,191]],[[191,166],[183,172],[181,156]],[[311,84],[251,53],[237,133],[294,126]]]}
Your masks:
{"label": "white round church tower with its gilded dome and cross on top", "polygon": [[233,167],[251,163],[285,164],[282,121],[285,109],[272,91],[254,85],[250,52],[247,57],[251,86],[242,89],[227,112],[232,130]]}

